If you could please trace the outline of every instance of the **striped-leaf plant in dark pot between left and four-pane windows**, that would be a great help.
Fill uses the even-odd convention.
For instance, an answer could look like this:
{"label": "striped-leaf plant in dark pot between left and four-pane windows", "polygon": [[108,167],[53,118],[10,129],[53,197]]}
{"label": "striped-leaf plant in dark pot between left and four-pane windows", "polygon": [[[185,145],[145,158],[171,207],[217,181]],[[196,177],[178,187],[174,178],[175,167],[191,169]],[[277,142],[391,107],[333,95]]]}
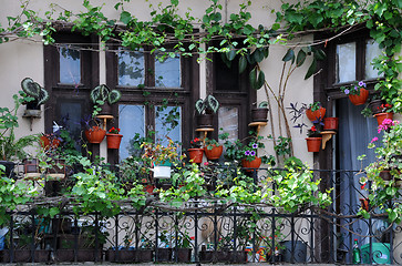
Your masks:
{"label": "striped-leaf plant in dark pot between left and four-pane windows", "polygon": [[95,86],[91,93],[90,99],[94,104],[94,116],[97,114],[112,114],[112,104],[120,101],[122,93],[117,90],[111,90],[105,84]]}

